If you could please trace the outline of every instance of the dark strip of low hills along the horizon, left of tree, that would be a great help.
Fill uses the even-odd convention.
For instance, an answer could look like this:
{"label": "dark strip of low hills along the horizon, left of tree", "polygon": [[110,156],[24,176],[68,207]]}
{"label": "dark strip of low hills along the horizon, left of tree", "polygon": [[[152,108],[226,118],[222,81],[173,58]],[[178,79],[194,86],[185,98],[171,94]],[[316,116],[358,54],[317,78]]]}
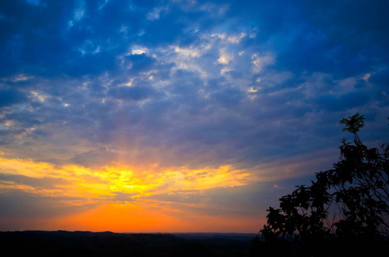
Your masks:
{"label": "dark strip of low hills along the horizon, left of tree", "polygon": [[88,231],[0,232],[10,256],[245,257],[255,234],[113,233]]}

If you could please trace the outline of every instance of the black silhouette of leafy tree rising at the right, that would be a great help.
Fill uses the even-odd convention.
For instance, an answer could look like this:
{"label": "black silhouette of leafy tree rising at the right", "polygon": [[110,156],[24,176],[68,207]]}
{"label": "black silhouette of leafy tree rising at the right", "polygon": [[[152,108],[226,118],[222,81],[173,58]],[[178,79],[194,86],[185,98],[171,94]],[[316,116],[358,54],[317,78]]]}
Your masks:
{"label": "black silhouette of leafy tree rising at the right", "polygon": [[254,242],[275,256],[286,241],[315,255],[336,242],[388,240],[389,145],[377,149],[362,143],[358,132],[364,119],[356,113],[339,121],[342,131],[354,135],[354,143],[343,138],[333,169],[316,173],[310,186],[297,186],[281,197],[280,208],[269,207],[267,224]]}

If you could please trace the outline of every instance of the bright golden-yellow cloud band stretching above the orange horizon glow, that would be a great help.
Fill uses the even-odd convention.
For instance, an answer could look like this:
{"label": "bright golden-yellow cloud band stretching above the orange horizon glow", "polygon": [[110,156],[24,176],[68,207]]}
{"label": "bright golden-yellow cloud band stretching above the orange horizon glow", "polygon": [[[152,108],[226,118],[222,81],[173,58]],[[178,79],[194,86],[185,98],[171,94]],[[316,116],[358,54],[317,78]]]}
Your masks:
{"label": "bright golden-yellow cloud band stretching above the orange horizon glow", "polygon": [[[33,160],[0,158],[0,173],[24,175],[34,178],[61,178],[68,183],[52,185],[50,189],[33,188],[30,185],[3,183],[2,188],[22,190],[50,195],[82,196],[85,198],[106,198],[115,192],[131,194],[133,198],[177,190],[204,190],[217,187],[235,187],[249,182],[250,174],[233,169],[231,165],[218,168],[205,167],[191,170],[175,167],[154,171],[138,170],[129,166],[105,166],[90,169],[77,165],[56,168],[49,163]],[[49,187],[50,185],[48,185]]]}

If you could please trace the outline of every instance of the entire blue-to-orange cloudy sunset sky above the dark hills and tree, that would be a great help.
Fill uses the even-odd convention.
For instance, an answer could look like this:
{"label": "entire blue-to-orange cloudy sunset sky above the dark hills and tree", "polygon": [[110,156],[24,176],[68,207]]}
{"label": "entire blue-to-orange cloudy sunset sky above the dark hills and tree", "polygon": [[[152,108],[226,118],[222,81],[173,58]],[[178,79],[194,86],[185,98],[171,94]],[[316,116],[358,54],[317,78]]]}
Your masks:
{"label": "entire blue-to-orange cloudy sunset sky above the dark hills and tree", "polygon": [[388,142],[388,1],[0,1],[0,230],[249,232]]}

